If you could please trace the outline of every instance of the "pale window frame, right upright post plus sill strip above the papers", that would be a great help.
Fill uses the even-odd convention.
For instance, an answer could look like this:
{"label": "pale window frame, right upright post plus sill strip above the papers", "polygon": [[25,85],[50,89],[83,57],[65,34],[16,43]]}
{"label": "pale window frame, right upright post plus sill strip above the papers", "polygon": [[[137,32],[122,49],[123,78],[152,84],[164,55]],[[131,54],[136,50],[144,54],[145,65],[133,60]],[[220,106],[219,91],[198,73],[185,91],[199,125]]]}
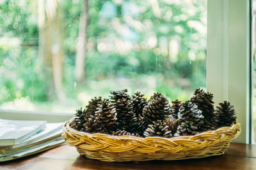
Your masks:
{"label": "pale window frame, right upright post plus sill strip above the papers", "polygon": [[[241,135],[250,143],[250,0],[207,0],[207,91],[216,104],[235,106]],[[0,110],[0,118],[63,122],[74,115]]]}

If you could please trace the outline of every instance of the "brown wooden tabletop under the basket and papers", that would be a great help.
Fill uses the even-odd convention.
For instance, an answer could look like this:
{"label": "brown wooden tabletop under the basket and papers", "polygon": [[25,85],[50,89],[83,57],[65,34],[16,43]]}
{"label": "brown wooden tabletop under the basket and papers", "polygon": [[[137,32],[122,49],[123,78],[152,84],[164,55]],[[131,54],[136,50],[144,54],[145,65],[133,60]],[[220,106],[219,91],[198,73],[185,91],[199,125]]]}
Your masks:
{"label": "brown wooden tabletop under the basket and papers", "polygon": [[204,159],[102,162],[79,156],[64,145],[30,157],[0,163],[0,169],[256,169],[256,145],[231,143],[224,155]]}

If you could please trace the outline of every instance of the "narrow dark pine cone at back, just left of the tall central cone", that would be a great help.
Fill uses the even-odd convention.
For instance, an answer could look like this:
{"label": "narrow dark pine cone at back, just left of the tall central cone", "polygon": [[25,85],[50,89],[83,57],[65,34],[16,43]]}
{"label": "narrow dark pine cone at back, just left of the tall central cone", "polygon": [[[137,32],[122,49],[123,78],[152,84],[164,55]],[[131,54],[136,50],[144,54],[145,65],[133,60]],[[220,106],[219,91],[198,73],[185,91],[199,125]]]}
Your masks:
{"label": "narrow dark pine cone at back, just left of the tall central cone", "polygon": [[136,114],[136,117],[140,120],[143,119],[142,117],[142,111],[143,108],[147,105],[147,101],[145,98],[143,98],[144,94],[141,94],[140,92],[136,92],[134,96],[132,96],[132,106],[134,113]]}

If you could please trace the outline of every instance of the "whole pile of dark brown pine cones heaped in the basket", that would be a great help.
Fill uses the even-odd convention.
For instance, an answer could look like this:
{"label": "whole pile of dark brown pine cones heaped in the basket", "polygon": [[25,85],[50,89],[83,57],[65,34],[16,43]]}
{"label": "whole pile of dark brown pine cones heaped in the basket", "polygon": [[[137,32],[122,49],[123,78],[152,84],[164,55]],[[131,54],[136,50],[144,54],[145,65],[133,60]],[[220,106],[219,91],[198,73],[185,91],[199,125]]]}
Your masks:
{"label": "whole pile of dark brown pine cones heaped in the basket", "polygon": [[184,103],[170,106],[163,94],[147,101],[140,92],[129,96],[127,90],[111,91],[109,99],[95,97],[86,109],[76,113],[77,131],[138,137],[195,135],[236,123],[234,106],[224,101],[214,110],[213,95],[196,89]]}

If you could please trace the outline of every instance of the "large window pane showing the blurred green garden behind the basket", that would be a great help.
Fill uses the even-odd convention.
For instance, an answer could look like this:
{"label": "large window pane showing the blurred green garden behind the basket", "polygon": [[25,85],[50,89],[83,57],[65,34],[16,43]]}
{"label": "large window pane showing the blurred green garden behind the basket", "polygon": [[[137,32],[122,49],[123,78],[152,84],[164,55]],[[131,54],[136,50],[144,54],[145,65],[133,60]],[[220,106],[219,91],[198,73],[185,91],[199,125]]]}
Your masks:
{"label": "large window pane showing the blurred green garden behind the basket", "polygon": [[0,108],[73,113],[109,90],[205,87],[206,1],[0,1]]}

